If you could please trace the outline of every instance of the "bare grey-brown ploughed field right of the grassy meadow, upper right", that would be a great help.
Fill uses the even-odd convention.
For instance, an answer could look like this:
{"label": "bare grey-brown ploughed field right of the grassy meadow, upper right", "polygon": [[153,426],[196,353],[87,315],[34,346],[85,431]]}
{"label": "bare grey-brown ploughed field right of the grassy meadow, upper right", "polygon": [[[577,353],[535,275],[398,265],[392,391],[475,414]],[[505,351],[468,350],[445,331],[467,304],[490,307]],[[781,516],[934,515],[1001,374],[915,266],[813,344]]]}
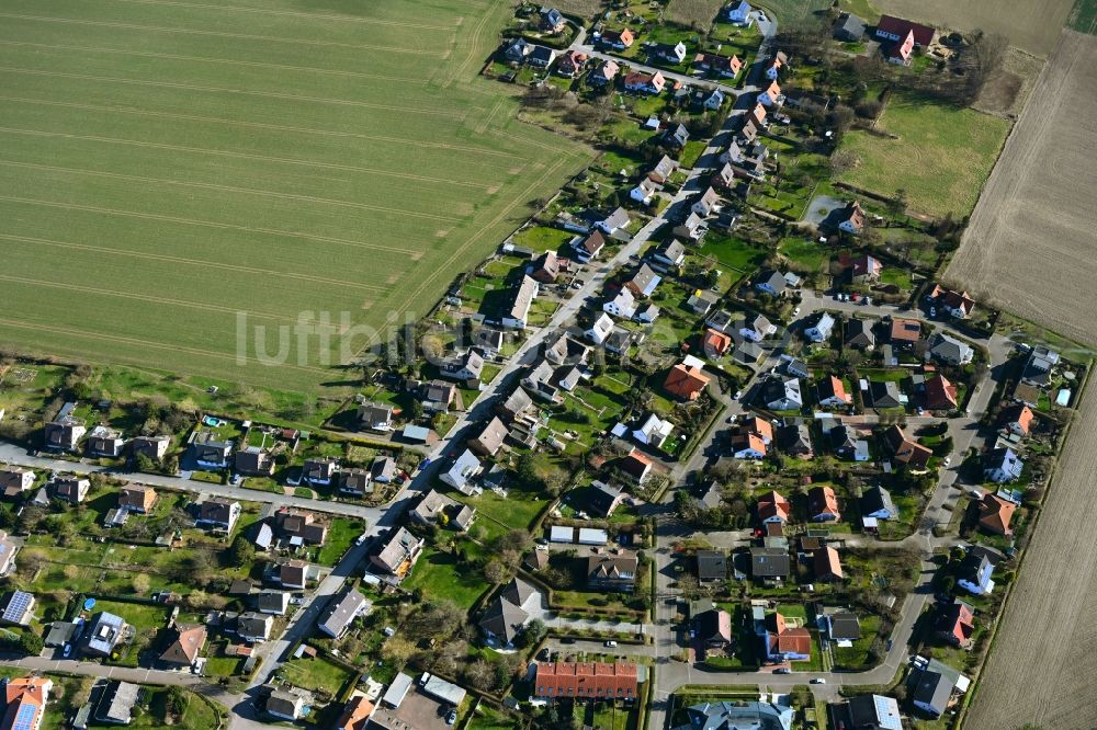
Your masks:
{"label": "bare grey-brown ploughed field right of the grassy meadow, upper right", "polygon": [[948,275],[1097,344],[1097,37],[1065,31],[1036,82]]}

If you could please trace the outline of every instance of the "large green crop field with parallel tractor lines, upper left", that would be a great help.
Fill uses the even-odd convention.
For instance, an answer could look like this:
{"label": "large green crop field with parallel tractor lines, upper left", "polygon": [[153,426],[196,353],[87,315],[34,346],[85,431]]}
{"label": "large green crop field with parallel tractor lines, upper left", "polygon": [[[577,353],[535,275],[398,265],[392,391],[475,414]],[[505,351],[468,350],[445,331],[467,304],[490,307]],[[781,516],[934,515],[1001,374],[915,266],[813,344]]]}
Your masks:
{"label": "large green crop field with parallel tractor lines, upper left", "polygon": [[476,78],[509,12],[0,0],[0,344],[340,381],[589,159]]}

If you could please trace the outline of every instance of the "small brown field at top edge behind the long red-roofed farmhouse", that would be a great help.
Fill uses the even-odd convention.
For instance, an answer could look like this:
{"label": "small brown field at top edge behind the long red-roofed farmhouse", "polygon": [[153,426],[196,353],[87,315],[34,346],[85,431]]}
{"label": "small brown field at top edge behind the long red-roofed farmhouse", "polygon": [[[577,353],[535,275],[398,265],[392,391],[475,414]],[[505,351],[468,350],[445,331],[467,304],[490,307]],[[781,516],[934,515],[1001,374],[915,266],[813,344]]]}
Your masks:
{"label": "small brown field at top edge behind the long red-roofed farmhouse", "polygon": [[881,12],[958,31],[1002,33],[1031,54],[1047,56],[1055,47],[1074,0],[878,0]]}

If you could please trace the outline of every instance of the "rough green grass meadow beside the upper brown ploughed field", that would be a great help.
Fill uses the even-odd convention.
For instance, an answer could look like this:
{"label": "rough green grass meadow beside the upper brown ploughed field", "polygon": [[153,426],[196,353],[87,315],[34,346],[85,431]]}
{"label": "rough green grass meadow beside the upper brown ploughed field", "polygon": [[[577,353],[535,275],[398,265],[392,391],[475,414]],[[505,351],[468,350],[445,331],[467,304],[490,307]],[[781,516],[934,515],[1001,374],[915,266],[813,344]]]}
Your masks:
{"label": "rough green grass meadow beside the upper brown ploughed field", "polygon": [[1010,123],[969,109],[894,96],[877,126],[897,138],[848,133],[842,148],[859,163],[841,180],[881,195],[905,190],[909,208],[918,213],[966,216]]}

